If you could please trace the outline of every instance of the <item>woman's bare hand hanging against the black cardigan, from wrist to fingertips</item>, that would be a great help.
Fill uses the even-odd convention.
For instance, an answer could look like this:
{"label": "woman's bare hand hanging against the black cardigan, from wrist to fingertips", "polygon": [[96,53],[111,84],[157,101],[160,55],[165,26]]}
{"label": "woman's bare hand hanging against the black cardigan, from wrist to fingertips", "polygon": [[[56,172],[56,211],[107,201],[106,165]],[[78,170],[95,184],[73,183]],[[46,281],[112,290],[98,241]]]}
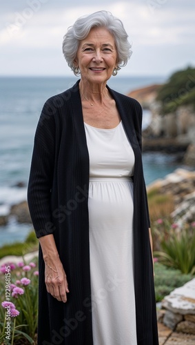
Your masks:
{"label": "woman's bare hand hanging against the black cardigan, from wrist to fingertips", "polygon": [[58,301],[67,301],[68,282],[59,258],[45,260],[45,285],[48,293]]}

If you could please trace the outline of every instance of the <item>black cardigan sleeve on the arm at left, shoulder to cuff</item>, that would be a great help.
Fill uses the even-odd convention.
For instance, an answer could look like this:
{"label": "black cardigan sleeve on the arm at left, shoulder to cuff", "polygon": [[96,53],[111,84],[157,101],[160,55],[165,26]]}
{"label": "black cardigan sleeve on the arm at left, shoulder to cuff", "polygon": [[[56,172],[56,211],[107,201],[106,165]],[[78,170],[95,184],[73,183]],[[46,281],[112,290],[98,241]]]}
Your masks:
{"label": "black cardigan sleeve on the arm at left, shoulder to cuff", "polygon": [[47,101],[34,137],[34,148],[28,181],[28,207],[37,237],[54,233],[50,195],[54,175],[54,116]]}

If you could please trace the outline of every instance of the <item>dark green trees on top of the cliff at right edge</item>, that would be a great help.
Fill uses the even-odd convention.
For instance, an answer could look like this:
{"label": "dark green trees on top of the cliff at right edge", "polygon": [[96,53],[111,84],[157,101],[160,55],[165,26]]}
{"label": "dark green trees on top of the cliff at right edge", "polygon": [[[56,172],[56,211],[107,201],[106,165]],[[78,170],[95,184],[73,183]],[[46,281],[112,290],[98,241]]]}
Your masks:
{"label": "dark green trees on top of the cliff at right edge", "polygon": [[174,72],[167,83],[157,90],[156,100],[162,103],[162,115],[188,104],[195,109],[195,68],[187,67]]}

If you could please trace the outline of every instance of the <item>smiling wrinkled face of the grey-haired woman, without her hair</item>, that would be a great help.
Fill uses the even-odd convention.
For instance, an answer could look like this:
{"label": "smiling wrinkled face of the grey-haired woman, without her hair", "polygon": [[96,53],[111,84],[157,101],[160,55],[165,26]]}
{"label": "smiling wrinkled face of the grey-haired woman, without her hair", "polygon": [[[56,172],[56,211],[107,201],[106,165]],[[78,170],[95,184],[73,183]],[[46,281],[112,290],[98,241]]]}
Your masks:
{"label": "smiling wrinkled face of the grey-haired woman, without her hair", "polygon": [[75,59],[82,80],[104,83],[110,79],[117,65],[114,37],[106,28],[92,28],[79,44]]}

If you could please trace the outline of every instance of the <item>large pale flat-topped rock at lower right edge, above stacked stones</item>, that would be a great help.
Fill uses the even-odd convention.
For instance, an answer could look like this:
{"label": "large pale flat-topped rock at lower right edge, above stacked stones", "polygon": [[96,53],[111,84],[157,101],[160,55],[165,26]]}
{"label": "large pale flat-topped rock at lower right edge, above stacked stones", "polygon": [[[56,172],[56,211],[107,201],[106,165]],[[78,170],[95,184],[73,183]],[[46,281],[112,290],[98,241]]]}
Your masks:
{"label": "large pale flat-topped rock at lower right edge, above stacked stones", "polygon": [[195,315],[195,278],[163,299],[163,308],[181,315]]}

